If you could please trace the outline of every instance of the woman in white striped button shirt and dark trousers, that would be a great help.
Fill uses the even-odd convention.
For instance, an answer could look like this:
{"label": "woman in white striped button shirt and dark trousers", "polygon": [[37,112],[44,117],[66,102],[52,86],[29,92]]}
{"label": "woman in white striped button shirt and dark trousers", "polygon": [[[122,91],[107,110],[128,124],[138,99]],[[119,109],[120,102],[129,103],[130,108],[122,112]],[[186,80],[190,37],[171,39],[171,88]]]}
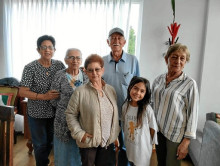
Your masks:
{"label": "woman in white striped button shirt and dark trousers", "polygon": [[190,139],[196,138],[198,88],[195,80],[183,72],[189,59],[185,45],[171,45],[165,56],[168,72],[153,82],[152,107],[159,128],[156,146],[159,166],[180,166],[188,153]]}

